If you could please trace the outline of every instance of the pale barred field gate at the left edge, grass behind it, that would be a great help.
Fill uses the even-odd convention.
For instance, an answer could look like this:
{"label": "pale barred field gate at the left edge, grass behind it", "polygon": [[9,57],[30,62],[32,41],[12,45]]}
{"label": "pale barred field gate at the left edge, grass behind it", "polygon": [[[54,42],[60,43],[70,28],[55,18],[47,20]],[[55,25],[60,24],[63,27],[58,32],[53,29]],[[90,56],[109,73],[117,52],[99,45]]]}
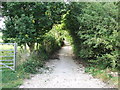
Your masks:
{"label": "pale barred field gate at the left edge, grass behind it", "polygon": [[16,67],[16,43],[0,43],[0,71]]}

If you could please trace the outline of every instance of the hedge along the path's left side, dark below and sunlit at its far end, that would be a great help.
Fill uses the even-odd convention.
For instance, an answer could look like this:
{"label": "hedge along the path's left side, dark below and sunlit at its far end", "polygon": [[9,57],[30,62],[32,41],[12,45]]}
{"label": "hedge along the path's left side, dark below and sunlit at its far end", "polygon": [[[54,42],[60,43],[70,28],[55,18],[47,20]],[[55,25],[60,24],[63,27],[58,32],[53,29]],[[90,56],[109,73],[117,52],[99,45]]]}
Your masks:
{"label": "hedge along the path's left side, dark below and sunlit at its far end", "polygon": [[[39,43],[38,48],[31,53],[29,58],[21,66],[27,73],[37,73],[44,66],[45,61],[62,47],[62,35],[55,30],[51,30],[44,35],[44,39]],[[57,35],[57,36],[56,36]]]}

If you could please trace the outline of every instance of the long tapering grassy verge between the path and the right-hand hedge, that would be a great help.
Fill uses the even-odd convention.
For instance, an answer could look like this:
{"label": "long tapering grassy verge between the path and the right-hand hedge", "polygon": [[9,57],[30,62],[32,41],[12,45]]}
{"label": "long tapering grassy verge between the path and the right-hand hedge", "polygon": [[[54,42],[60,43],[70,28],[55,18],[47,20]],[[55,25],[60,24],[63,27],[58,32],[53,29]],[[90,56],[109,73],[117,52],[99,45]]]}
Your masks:
{"label": "long tapering grassy verge between the path and the right-hand hedge", "polygon": [[90,64],[87,60],[80,60],[74,57],[78,64],[85,67],[85,72],[91,74],[93,77],[105,82],[108,87],[119,88],[119,71],[111,68],[103,69],[103,65]]}

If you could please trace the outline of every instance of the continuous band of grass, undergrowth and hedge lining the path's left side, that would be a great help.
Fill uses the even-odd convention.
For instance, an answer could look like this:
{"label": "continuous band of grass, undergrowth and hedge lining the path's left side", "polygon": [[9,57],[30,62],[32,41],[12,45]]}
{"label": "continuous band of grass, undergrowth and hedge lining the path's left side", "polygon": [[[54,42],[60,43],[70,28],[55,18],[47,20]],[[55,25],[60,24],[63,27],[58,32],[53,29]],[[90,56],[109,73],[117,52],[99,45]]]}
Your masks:
{"label": "continuous band of grass, undergrowth and hedge lining the path's left side", "polygon": [[[58,51],[63,41],[60,35],[57,35],[57,40],[54,32],[51,30],[44,36],[44,40],[39,43],[38,48],[29,53],[29,50],[17,51],[16,71],[2,71],[2,88],[19,87],[25,78],[30,78],[30,74],[36,74],[40,68],[44,68],[46,60],[48,60],[54,52]],[[4,47],[6,49],[6,47]]]}

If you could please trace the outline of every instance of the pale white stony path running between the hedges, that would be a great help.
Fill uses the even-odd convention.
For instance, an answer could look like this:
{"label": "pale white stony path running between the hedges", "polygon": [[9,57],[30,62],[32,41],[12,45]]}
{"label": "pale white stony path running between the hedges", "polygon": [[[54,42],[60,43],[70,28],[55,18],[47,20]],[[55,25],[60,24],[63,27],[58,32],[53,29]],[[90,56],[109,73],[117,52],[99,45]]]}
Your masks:
{"label": "pale white stony path running between the hedges", "polygon": [[64,46],[59,51],[59,60],[46,63],[49,70],[32,75],[20,88],[105,88],[106,84],[84,72],[82,65],[72,59],[71,46]]}

